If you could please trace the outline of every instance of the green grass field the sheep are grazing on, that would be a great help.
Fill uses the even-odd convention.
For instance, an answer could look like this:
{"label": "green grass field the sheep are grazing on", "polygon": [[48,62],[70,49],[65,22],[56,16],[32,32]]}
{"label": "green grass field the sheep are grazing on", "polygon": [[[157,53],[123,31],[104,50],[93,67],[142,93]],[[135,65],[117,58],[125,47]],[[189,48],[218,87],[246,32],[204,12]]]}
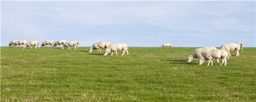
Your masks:
{"label": "green grass field the sheep are grazing on", "polygon": [[255,47],[227,66],[187,63],[195,47],[0,48],[1,101],[256,101]]}

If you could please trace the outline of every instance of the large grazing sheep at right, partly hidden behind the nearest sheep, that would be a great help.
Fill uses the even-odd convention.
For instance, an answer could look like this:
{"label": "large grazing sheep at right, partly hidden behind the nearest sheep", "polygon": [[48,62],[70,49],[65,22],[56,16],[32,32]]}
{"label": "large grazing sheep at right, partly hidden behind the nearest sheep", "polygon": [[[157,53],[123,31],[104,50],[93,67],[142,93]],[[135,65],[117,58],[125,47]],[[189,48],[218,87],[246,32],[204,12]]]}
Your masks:
{"label": "large grazing sheep at right, partly hidden behind the nearest sheep", "polygon": [[[193,58],[199,58],[203,55],[203,53],[211,50],[217,50],[217,48],[216,47],[197,48],[187,57],[187,62],[191,62]],[[219,63],[219,59],[217,59],[217,62]]]}

